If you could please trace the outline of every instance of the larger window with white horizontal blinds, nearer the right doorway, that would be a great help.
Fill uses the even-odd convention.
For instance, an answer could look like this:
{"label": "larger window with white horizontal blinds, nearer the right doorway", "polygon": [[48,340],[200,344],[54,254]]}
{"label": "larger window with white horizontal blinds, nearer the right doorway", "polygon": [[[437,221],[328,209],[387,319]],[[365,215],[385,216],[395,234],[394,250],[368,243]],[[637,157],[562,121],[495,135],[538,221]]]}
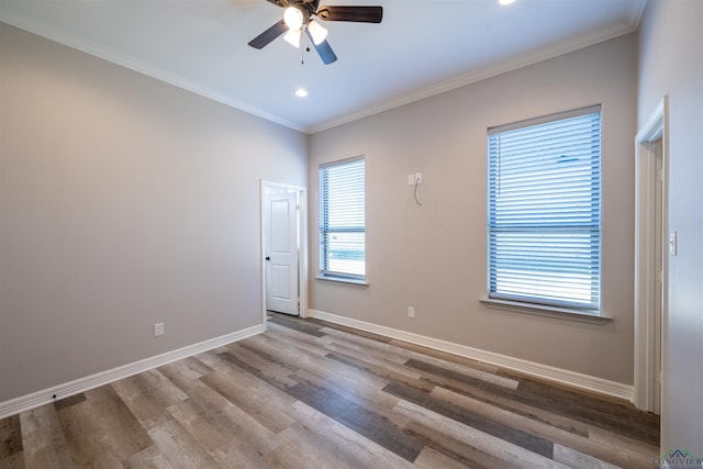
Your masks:
{"label": "larger window with white horizontal blinds, nearer the right doorway", "polygon": [[601,109],[488,131],[489,298],[600,314]]}

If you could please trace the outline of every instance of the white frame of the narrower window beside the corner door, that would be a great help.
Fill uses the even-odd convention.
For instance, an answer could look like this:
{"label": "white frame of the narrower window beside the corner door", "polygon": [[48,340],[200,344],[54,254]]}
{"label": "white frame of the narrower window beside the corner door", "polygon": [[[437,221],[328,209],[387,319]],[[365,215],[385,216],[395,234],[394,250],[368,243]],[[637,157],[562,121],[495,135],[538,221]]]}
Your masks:
{"label": "white frame of the narrower window beside the corner door", "polygon": [[[328,216],[331,212],[334,212],[335,209],[333,208],[331,210],[331,208],[328,206],[328,192],[327,189],[325,188],[325,175],[328,175],[326,171],[331,168],[343,168],[345,166],[348,165],[354,165],[357,163],[361,163],[362,164],[362,168],[361,168],[361,189],[362,189],[362,202],[361,202],[361,206],[359,206],[358,201],[353,202],[353,210],[362,210],[362,224],[356,224],[356,225],[348,225],[348,226],[336,226],[336,227],[331,227],[328,223],[326,223],[325,221],[325,216],[327,216],[327,221],[328,221]],[[320,188],[320,200],[319,200],[319,210],[320,210],[320,216],[319,216],[319,230],[317,230],[317,235],[319,235],[319,276],[317,279],[319,280],[327,280],[327,281],[335,281],[335,282],[344,282],[344,283],[350,283],[350,284],[360,284],[360,286],[367,286],[367,270],[366,270],[366,158],[364,155],[360,156],[355,156],[352,158],[346,158],[346,159],[341,159],[341,160],[335,160],[335,161],[330,161],[330,163],[323,163],[319,166],[317,169],[317,178],[319,178],[319,188]],[[352,196],[354,197],[354,196]],[[356,197],[358,197],[358,194],[356,194]],[[337,208],[336,210],[344,210],[341,208]],[[361,256],[362,256],[362,273],[355,273],[352,272],[352,269],[347,269],[347,270],[338,270],[338,269],[333,269],[332,266],[330,265],[331,263],[331,257],[328,256],[330,252],[332,250],[330,248],[330,243],[328,243],[328,235],[331,233],[341,233],[341,234],[361,234],[362,235],[362,242],[361,242]]]}

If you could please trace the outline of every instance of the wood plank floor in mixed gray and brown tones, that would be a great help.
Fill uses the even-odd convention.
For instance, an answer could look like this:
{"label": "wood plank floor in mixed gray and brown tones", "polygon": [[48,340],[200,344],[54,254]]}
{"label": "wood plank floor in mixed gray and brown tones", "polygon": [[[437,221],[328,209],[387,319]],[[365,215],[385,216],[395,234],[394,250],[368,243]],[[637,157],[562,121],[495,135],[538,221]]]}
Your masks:
{"label": "wood plank floor in mixed gray and brown tones", "polygon": [[316,320],[0,420],[0,468],[649,468],[629,403]]}

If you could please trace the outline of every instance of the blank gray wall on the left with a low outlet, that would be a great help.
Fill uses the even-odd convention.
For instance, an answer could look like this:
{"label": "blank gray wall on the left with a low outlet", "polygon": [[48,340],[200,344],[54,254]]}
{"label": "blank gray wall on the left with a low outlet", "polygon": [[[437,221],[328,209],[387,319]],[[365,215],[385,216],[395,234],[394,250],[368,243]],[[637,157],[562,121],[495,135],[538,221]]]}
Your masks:
{"label": "blank gray wall on the left with a low outlet", "polygon": [[0,58],[0,402],[260,324],[259,180],[308,137],[1,23]]}

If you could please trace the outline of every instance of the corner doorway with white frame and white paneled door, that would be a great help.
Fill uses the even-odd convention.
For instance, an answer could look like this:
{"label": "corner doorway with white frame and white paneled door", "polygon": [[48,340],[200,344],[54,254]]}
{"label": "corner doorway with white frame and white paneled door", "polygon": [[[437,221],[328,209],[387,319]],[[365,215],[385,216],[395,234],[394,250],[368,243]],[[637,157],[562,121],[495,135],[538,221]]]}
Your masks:
{"label": "corner doorway with white frame and white paneled door", "polygon": [[308,220],[303,187],[261,181],[263,322],[274,311],[305,316]]}

